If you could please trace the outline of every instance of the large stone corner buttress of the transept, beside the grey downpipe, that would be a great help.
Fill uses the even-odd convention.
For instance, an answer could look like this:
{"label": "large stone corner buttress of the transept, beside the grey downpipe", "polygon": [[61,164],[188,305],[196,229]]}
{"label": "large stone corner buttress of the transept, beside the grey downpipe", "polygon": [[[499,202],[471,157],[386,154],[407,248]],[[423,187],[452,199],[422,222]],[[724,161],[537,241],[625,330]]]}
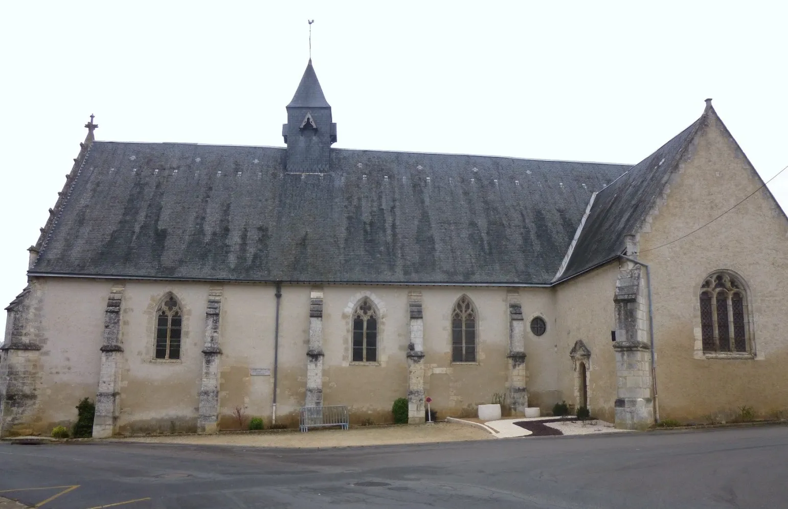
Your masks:
{"label": "large stone corner buttress of the transept, beside the grey downpipe", "polygon": [[[631,251],[630,251],[631,252]],[[641,266],[622,260],[615,283],[615,427],[645,429],[654,423],[651,346]]]}

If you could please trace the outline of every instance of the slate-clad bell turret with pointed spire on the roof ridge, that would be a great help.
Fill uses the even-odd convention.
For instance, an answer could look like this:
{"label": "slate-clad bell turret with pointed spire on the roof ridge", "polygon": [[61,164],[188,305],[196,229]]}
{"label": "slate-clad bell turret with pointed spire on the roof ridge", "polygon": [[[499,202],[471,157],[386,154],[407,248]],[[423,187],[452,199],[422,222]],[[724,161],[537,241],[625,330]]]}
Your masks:
{"label": "slate-clad bell turret with pointed spire on the roof ridge", "polygon": [[288,146],[287,171],[328,172],[331,144],[336,142],[336,124],[331,121],[331,106],[325,100],[311,58],[287,110],[288,123],[282,125],[282,136]]}

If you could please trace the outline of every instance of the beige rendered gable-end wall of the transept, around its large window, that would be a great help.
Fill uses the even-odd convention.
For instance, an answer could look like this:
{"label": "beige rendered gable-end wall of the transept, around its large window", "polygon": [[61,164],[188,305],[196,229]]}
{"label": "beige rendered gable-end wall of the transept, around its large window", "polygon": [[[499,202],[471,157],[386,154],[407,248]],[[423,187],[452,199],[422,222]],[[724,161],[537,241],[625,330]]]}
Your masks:
{"label": "beige rendered gable-end wall of the transept, around its large window", "polygon": [[[772,171],[772,169],[763,169]],[[771,173],[770,173],[771,174]],[[639,236],[652,265],[660,418],[730,420],[747,405],[788,410],[788,221],[712,112]],[[679,236],[734,210],[683,240]],[[753,306],[755,359],[706,359],[698,291],[718,269],[742,277]]]}

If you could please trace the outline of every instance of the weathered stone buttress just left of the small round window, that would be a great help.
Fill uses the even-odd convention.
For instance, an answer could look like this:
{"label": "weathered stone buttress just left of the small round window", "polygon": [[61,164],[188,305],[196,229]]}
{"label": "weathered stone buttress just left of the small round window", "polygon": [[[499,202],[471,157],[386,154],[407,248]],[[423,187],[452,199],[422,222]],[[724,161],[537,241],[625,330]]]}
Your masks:
{"label": "weathered stone buttress just left of the small round window", "polygon": [[528,407],[528,371],[526,370],[525,321],[519,292],[508,292],[509,301],[509,372],[507,377],[509,407],[512,415],[522,415]]}

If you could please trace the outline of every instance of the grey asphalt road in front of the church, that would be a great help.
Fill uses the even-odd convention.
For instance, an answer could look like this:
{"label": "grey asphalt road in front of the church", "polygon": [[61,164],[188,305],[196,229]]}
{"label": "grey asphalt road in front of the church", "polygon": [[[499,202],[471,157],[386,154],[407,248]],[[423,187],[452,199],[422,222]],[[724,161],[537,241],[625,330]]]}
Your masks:
{"label": "grey asphalt road in front of the church", "polygon": [[62,509],[788,507],[788,427],[321,450],[0,444],[0,496]]}

